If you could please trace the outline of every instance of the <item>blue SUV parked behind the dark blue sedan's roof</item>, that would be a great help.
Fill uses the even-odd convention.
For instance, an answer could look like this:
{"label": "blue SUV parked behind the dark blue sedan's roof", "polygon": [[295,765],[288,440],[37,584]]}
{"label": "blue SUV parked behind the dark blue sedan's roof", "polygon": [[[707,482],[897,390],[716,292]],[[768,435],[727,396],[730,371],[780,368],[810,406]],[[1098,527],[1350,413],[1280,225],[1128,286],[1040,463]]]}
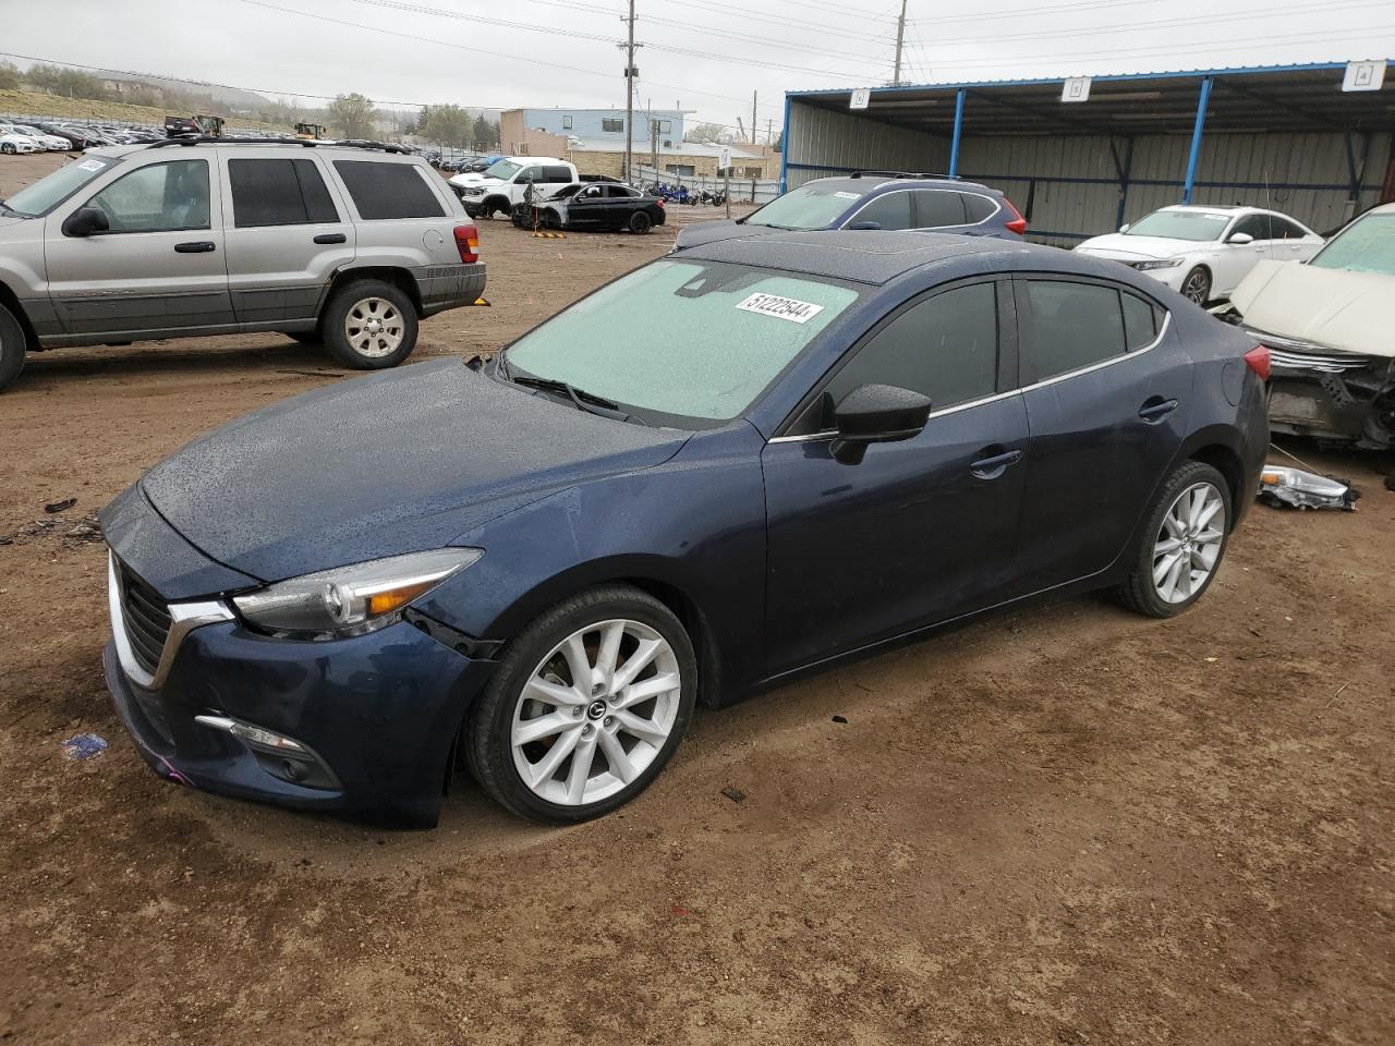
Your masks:
{"label": "blue SUV parked behind the dark blue sedan's roof", "polygon": [[678,233],[674,250],[829,229],[917,229],[1020,241],[1027,234],[1027,219],[1006,195],[976,181],[869,170],[806,181],[734,222],[689,225]]}

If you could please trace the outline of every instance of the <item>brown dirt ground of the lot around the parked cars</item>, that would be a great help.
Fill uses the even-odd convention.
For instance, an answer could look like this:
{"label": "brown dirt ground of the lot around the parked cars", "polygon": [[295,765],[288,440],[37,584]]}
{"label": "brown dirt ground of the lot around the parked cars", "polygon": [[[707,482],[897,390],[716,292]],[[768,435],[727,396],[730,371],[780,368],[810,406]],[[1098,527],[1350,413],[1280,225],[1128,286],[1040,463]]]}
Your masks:
{"label": "brown dirt ground of the lot around the parked cars", "polygon": [[[0,195],[40,169],[0,158]],[[492,307],[414,358],[494,349],[668,234],[485,225]],[[68,537],[342,375],[262,335],[45,353],[0,396],[0,536],[78,499],[0,545],[0,1039],[1395,1042],[1389,462],[1288,444],[1360,512],[1253,509],[1175,621],[976,625],[699,710],[600,821],[527,826],[462,777],[405,833],[149,773],[102,682],[103,548]],[[80,731],[110,749],[66,759]]]}

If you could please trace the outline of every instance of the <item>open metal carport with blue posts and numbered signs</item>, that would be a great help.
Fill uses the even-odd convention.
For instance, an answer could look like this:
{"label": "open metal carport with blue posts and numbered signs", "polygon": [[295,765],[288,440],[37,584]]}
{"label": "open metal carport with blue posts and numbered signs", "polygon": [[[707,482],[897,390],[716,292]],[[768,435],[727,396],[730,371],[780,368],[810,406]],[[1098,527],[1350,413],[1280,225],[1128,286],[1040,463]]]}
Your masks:
{"label": "open metal carport with blue posts and numbered signs", "polygon": [[[1375,63],[1375,67],[1389,63]],[[852,170],[942,172],[1003,190],[1030,238],[1071,245],[1176,202],[1254,204],[1318,232],[1395,197],[1395,84],[1346,63],[785,95],[783,188]],[[1392,78],[1395,79],[1395,78]]]}

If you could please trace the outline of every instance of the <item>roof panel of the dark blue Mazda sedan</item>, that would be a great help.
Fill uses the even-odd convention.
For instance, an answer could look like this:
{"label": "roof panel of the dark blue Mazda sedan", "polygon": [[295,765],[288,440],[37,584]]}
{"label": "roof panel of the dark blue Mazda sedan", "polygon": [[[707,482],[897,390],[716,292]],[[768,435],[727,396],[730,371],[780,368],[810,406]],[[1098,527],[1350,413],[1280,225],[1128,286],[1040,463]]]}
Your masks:
{"label": "roof panel of the dark blue Mazda sedan", "polygon": [[1043,268],[1062,272],[1092,272],[1071,254],[1055,247],[1041,247],[982,236],[951,233],[847,232],[841,229],[809,233],[774,233],[735,240],[717,240],[691,247],[678,261],[716,261],[783,269],[808,276],[883,285],[922,265],[976,255],[985,269],[995,258],[1014,258],[1011,268],[1021,268],[1021,257],[1039,258]]}

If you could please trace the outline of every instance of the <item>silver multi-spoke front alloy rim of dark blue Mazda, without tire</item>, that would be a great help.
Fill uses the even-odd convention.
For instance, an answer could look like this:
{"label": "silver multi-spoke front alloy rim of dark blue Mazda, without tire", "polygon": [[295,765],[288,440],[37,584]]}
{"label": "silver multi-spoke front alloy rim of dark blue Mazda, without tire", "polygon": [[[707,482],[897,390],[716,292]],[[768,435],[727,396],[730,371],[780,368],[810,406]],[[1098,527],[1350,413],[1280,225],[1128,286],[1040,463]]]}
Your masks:
{"label": "silver multi-spoke front alloy rim of dark blue Mazda, without tire", "polygon": [[663,752],[678,718],[678,657],[638,621],[587,625],[529,674],[509,732],[513,767],[540,799],[600,802]]}

